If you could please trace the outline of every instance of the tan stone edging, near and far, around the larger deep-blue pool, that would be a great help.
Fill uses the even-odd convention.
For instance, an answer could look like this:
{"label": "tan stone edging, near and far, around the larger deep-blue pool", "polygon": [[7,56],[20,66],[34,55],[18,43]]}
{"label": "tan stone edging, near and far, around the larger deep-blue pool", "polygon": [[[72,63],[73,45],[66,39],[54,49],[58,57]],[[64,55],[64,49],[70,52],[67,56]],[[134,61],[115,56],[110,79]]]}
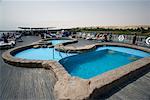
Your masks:
{"label": "tan stone edging, near and far, around the larger deep-blue pool", "polygon": [[[63,45],[61,45],[63,46]],[[67,50],[72,52],[86,51],[88,49],[95,49],[99,46],[119,46],[119,47],[129,47],[137,50],[142,50],[145,52],[150,52],[148,48],[139,47],[136,45],[123,44],[123,43],[96,43],[88,45],[81,48],[69,48],[63,46],[57,46],[57,50],[66,52]],[[59,48],[60,47],[60,48]],[[62,65],[58,65],[61,66]],[[62,66],[63,67],[63,66]],[[63,70],[63,71],[62,71]],[[150,70],[150,57],[145,57],[129,63],[127,65],[121,66],[120,68],[105,72],[101,75],[93,77],[91,79],[81,79],[78,77],[71,77],[68,72],[63,68],[61,70],[54,71],[57,73],[56,76],[61,76],[55,84],[54,91],[57,99],[70,99],[70,100],[80,100],[80,99],[95,99],[97,95],[105,94],[113,87],[122,84],[130,78],[136,77],[142,71]],[[60,72],[59,72],[60,71]],[[62,72],[63,74],[61,74]],[[64,76],[63,76],[64,75]],[[63,92],[62,92],[63,91]]]}

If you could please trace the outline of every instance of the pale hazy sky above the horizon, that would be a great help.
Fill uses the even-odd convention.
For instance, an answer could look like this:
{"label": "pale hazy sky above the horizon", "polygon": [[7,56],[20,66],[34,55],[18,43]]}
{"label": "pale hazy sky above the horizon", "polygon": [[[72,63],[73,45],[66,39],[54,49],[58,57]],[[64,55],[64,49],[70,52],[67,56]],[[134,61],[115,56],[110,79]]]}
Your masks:
{"label": "pale hazy sky above the horizon", "polygon": [[0,0],[0,30],[150,25],[150,0]]}

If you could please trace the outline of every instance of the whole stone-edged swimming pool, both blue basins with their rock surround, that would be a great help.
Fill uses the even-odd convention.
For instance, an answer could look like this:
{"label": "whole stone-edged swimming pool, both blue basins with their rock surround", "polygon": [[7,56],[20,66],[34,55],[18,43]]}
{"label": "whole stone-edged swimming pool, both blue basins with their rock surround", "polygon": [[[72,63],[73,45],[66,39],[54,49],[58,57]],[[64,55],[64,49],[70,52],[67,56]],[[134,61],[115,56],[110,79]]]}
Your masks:
{"label": "whole stone-edged swimming pool, both blue basins with their rock surround", "polygon": [[[114,47],[112,47],[112,45]],[[68,99],[72,99],[72,95],[69,94],[70,91],[78,92],[80,89],[84,91],[82,93],[78,92],[78,94],[73,94],[73,97],[80,97],[75,99],[85,99],[93,94],[95,95],[95,90],[96,93],[98,91],[100,94],[103,94],[106,91],[110,91],[116,84],[122,84],[122,82],[128,81],[130,77],[141,75],[141,72],[145,73],[145,71],[149,69],[150,64],[149,48],[129,44],[100,43],[96,44],[94,47],[98,48],[91,52],[72,55],[64,53],[63,57],[58,56],[60,55],[59,52],[50,46],[48,46],[50,48],[36,49],[33,49],[33,47],[34,45],[27,45],[11,49],[3,53],[2,58],[6,63],[17,67],[45,68],[52,70],[57,78],[54,87],[55,93],[57,93],[58,96],[62,96],[59,97],[62,99],[64,99],[63,97],[66,98],[66,96]],[[91,48],[93,48],[93,46]],[[79,48],[75,50],[78,49]],[[90,48],[87,48],[87,50],[89,49]],[[35,51],[35,55],[32,55]],[[56,57],[58,59],[53,58],[52,51],[56,52],[55,56],[58,56]],[[82,50],[80,49],[80,51]],[[31,55],[27,55],[29,53],[31,53]],[[45,61],[45,59],[50,61]]]}

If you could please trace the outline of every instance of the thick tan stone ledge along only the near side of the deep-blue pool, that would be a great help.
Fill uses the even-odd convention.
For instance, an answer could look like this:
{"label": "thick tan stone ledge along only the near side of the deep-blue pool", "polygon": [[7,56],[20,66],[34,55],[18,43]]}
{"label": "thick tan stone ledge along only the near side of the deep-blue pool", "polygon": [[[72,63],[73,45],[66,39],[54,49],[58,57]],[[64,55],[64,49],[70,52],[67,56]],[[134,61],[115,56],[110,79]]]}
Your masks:
{"label": "thick tan stone ledge along only the near side of the deep-blue pool", "polygon": [[94,100],[96,95],[107,93],[143,70],[150,70],[150,58],[142,58],[91,79],[70,76],[59,63],[51,65],[47,62],[47,66],[51,66],[57,76],[54,93],[58,100]]}

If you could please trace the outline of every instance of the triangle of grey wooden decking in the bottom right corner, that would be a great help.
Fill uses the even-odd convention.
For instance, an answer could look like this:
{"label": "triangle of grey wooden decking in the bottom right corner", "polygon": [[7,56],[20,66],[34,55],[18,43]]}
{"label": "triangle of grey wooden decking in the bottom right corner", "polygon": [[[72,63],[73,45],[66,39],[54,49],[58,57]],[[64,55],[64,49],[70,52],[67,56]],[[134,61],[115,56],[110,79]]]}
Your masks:
{"label": "triangle of grey wooden decking in the bottom right corner", "polygon": [[150,72],[126,85],[116,87],[119,91],[108,100],[150,100]]}

